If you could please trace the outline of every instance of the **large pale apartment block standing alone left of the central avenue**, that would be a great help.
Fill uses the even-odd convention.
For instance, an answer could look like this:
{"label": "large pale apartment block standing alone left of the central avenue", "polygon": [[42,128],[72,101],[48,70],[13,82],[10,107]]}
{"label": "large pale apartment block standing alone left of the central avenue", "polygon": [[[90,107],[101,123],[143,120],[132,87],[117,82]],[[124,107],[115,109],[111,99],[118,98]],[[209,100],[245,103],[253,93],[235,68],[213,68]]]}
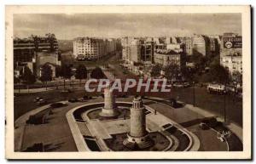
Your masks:
{"label": "large pale apartment block standing alone left of the central avenue", "polygon": [[95,37],[77,37],[73,40],[73,57],[75,59],[100,59],[115,51],[113,39]]}

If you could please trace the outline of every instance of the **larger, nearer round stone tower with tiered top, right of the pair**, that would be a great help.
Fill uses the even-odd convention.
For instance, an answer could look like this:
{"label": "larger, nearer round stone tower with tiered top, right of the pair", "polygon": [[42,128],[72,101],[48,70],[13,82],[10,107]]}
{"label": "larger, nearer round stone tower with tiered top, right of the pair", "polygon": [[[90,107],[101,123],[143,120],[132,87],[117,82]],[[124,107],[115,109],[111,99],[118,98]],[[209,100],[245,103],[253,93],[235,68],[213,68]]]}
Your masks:
{"label": "larger, nearer round stone tower with tiered top, right of the pair", "polygon": [[153,140],[148,138],[145,107],[140,97],[135,97],[132,102],[130,128],[130,133],[123,142],[126,147],[131,150],[143,150],[154,144]]}

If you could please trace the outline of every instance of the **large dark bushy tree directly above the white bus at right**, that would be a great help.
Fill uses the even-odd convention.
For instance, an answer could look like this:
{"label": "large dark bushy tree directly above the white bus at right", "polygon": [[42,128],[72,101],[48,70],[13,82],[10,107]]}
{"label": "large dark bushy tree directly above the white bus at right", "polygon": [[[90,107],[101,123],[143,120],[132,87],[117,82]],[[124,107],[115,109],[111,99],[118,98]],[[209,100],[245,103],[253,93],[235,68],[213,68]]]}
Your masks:
{"label": "large dark bushy tree directly above the white bus at right", "polygon": [[230,82],[230,73],[222,65],[211,65],[210,70],[207,74],[208,76],[210,76],[209,79],[212,82],[218,82],[221,84]]}

